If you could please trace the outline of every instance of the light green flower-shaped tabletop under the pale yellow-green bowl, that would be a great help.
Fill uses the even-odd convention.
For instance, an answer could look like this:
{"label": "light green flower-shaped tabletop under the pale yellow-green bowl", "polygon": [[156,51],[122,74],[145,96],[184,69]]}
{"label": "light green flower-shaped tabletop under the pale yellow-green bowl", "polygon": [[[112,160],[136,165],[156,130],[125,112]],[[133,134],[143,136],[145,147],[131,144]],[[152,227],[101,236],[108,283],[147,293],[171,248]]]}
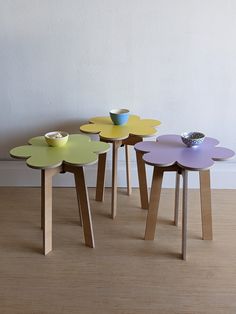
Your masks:
{"label": "light green flower-shaped tabletop under the pale yellow-green bowl", "polygon": [[27,165],[36,169],[55,168],[63,163],[90,165],[97,162],[98,154],[105,153],[110,148],[107,143],[91,141],[88,136],[81,134],[71,134],[62,147],[48,146],[43,136],[30,139],[29,144],[13,148],[10,155],[27,159]]}

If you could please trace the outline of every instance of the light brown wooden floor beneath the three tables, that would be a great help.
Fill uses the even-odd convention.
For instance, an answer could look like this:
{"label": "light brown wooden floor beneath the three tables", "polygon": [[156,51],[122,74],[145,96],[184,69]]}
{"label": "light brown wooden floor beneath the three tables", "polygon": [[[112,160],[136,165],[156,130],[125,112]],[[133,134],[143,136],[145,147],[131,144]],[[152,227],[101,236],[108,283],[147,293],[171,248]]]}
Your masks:
{"label": "light brown wooden floor beneath the three tables", "polygon": [[173,190],[163,190],[155,241],[144,241],[138,190],[119,192],[112,220],[110,191],[99,203],[91,189],[95,249],[84,246],[74,189],[53,193],[53,252],[45,257],[40,190],[0,188],[1,314],[236,313],[235,191],[213,191],[213,241],[201,240],[199,195],[190,192],[187,262]]}

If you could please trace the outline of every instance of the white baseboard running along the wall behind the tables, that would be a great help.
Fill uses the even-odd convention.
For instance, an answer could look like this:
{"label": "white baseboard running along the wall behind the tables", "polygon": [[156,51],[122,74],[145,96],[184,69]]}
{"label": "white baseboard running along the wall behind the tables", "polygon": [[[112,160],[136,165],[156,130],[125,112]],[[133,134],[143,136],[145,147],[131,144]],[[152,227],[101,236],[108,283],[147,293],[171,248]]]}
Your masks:
{"label": "white baseboard running along the wall behind the tables", "polygon": [[[88,187],[96,185],[97,165],[85,167],[86,182]],[[147,166],[148,184],[151,183],[152,167]],[[132,186],[138,187],[136,162],[131,161]],[[163,187],[173,188],[175,183],[174,173],[167,173],[164,177]],[[0,161],[0,186],[39,186],[40,171],[30,169],[23,161]],[[74,178],[71,174],[59,174],[53,179],[54,186],[74,186]],[[216,162],[211,171],[211,185],[216,189],[236,189],[236,162]],[[107,162],[106,186],[111,186],[111,162]],[[118,186],[126,186],[125,162],[119,161]],[[189,174],[189,187],[198,187],[198,175],[196,172]]]}

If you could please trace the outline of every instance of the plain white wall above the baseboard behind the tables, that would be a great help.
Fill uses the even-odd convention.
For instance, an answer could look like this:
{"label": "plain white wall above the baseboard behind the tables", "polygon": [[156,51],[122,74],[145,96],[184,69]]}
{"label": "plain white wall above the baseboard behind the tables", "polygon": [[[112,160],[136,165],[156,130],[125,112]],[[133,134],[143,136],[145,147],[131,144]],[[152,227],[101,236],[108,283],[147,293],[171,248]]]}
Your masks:
{"label": "plain white wall above the baseboard behind the tables", "polygon": [[121,105],[236,150],[235,17],[235,0],[0,0],[0,159]]}

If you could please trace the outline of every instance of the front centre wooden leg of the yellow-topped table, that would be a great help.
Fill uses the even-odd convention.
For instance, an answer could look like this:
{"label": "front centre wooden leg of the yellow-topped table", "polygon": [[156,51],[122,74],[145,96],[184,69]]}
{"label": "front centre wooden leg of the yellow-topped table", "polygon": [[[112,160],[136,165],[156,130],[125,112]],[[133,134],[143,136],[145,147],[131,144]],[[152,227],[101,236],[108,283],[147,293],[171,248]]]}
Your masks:
{"label": "front centre wooden leg of the yellow-topped table", "polygon": [[112,143],[111,216],[113,219],[116,217],[116,210],[117,210],[117,159],[118,159],[118,149],[121,143],[122,143],[121,141],[114,141]]}

